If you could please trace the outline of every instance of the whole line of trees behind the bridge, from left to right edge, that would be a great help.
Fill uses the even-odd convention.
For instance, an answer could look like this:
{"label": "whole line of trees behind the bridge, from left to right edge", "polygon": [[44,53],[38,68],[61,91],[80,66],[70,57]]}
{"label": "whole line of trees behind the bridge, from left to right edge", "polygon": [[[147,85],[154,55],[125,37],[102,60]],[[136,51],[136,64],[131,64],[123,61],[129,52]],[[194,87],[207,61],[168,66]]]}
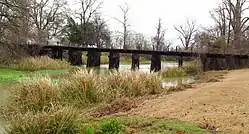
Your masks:
{"label": "whole line of trees behind the bridge, from left to right edge", "polygon": [[[129,26],[128,4],[121,5],[122,16],[114,19],[121,31],[111,31],[100,9],[101,0],[75,0],[79,9],[70,9],[67,0],[0,0],[0,62],[22,55],[18,44],[58,44],[104,48],[175,50],[165,38],[167,28],[159,18],[155,36],[148,37]],[[175,26],[181,45],[178,51],[247,53],[249,17],[247,0],[223,0],[210,9],[215,25],[199,27],[194,20]],[[149,19],[149,18],[148,18]]]}

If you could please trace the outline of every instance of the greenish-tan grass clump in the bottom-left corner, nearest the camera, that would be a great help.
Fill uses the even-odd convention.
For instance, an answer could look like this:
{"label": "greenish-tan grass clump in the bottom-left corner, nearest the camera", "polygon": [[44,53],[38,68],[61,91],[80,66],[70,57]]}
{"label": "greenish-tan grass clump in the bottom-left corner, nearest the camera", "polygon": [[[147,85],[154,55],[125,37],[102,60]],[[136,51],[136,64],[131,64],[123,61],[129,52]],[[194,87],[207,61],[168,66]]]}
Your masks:
{"label": "greenish-tan grass clump in the bottom-left corner, nearest the camera", "polygon": [[11,121],[8,134],[75,134],[79,133],[78,112],[63,108],[49,113],[25,114],[22,119]]}

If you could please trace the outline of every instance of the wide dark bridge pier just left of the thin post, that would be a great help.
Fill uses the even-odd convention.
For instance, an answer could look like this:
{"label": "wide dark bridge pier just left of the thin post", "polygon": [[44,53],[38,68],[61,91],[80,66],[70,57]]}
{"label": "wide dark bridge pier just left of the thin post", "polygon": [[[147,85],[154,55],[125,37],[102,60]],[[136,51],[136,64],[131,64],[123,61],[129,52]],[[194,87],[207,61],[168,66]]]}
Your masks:
{"label": "wide dark bridge pier just left of the thin post", "polygon": [[151,57],[150,71],[158,72],[161,70],[161,55],[153,53]]}

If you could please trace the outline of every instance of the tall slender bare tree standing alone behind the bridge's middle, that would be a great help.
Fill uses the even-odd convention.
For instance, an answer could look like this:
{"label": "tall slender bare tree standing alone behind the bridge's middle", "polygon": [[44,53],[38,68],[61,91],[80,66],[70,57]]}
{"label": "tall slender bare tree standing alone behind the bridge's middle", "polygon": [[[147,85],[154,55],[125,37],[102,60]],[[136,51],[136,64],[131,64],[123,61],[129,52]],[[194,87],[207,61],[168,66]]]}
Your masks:
{"label": "tall slender bare tree standing alone behind the bridge's middle", "polygon": [[119,8],[121,9],[122,13],[123,13],[123,19],[118,19],[115,18],[119,23],[122,24],[123,26],[123,49],[127,49],[127,38],[128,38],[128,13],[129,13],[129,6],[127,3],[125,3],[124,6],[119,6]]}

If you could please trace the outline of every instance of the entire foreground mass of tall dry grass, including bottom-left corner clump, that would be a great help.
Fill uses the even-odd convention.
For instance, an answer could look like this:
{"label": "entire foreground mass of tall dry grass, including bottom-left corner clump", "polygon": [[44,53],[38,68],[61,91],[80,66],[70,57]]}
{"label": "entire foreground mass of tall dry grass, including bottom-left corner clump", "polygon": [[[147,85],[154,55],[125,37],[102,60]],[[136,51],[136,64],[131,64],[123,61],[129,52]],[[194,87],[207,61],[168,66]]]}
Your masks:
{"label": "entire foreground mass of tall dry grass, including bottom-left corner clump", "polygon": [[156,73],[115,71],[99,76],[78,69],[58,82],[48,77],[21,82],[1,113],[11,123],[7,128],[10,134],[74,133],[79,131],[75,130],[76,115],[65,112],[66,107],[84,109],[92,104],[161,91],[161,78]]}

